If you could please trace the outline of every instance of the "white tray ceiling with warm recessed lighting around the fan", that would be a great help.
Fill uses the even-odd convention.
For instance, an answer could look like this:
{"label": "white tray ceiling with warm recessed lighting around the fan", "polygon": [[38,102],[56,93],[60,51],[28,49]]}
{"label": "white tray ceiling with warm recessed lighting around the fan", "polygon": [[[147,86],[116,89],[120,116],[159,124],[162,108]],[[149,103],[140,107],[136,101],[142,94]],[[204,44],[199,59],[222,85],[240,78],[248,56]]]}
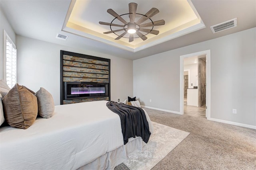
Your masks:
{"label": "white tray ceiling with warm recessed lighting around the fan", "polygon": [[[146,41],[138,38],[131,44],[124,38],[117,42],[113,33],[104,37],[102,32],[110,31],[109,26],[100,25],[98,21],[114,19],[106,12],[109,8],[119,15],[128,13],[130,1],[127,0],[0,0],[0,8],[18,35],[131,60],[256,27],[256,0],[132,2],[138,4],[137,12],[141,14],[146,14],[152,7],[158,8],[160,12],[152,20],[166,21],[165,25],[154,27],[160,31],[159,35],[147,35]],[[182,6],[182,3],[189,6]],[[234,18],[237,18],[237,27],[212,33],[210,26]],[[189,25],[193,20],[194,25]],[[68,27],[68,22],[79,25],[80,29]],[[56,39],[57,33],[67,35],[68,39]]]}

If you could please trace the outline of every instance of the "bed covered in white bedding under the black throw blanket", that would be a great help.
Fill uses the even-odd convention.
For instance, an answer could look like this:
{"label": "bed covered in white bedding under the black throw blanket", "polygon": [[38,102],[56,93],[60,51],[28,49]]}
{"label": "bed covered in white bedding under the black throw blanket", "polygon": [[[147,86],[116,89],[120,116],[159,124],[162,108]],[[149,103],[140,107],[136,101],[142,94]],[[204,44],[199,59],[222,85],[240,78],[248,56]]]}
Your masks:
{"label": "bed covered in white bedding under the black throw blanket", "polygon": [[107,102],[55,106],[50,119],[38,117],[26,130],[1,127],[0,169],[114,169],[144,142],[124,145],[120,117]]}

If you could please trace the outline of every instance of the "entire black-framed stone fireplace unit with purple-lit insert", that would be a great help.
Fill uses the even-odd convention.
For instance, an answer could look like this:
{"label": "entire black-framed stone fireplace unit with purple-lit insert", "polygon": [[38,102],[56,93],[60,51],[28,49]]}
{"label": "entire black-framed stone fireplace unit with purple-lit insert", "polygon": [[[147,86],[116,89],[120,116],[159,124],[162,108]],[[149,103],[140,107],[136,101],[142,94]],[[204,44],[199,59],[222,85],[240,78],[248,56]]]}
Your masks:
{"label": "entire black-framed stone fireplace unit with purple-lit insert", "polygon": [[60,104],[110,100],[110,59],[60,51]]}

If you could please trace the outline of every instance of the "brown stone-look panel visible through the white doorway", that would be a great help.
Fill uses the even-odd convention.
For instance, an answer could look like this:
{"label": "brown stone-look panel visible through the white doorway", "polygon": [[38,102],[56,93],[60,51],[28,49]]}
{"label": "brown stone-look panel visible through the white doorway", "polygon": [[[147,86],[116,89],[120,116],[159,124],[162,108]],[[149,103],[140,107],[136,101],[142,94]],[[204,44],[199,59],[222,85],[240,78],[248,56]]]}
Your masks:
{"label": "brown stone-look panel visible through the white doorway", "polygon": [[206,104],[206,61],[198,59],[198,106]]}

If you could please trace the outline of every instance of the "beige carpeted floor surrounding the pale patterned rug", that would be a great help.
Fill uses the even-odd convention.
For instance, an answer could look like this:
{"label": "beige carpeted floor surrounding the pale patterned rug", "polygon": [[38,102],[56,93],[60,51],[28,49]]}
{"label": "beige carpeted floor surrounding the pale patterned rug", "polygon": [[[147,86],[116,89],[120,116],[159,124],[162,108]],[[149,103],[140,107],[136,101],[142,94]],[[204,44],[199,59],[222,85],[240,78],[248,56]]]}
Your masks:
{"label": "beige carpeted floor surrounding the pale patterned rug", "polygon": [[[145,109],[152,121],[190,132],[152,170],[256,170],[256,130]],[[115,170],[128,170],[124,164]]]}

